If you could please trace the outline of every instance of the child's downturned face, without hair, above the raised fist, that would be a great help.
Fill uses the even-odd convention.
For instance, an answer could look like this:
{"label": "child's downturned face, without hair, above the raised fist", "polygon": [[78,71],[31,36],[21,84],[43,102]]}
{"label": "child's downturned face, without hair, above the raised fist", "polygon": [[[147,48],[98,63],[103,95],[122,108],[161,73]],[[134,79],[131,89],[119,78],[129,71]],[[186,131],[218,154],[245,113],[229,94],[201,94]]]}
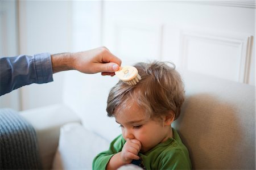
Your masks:
{"label": "child's downturned face, without hair, above the raised fist", "polygon": [[122,128],[123,138],[137,139],[141,142],[141,152],[146,152],[171,135],[170,123],[148,119],[143,109],[133,103],[130,109],[123,109],[115,114],[115,121]]}

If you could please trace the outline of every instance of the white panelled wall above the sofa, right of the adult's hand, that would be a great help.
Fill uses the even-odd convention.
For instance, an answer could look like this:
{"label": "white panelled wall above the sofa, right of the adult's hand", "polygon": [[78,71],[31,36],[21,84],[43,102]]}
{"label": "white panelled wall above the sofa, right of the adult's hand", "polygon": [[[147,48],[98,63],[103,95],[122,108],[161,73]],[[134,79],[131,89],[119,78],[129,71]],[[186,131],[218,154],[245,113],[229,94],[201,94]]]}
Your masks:
{"label": "white panelled wall above the sofa, right of the adult's hand", "polygon": [[104,1],[104,44],[127,62],[168,60],[254,85],[255,6],[247,3]]}

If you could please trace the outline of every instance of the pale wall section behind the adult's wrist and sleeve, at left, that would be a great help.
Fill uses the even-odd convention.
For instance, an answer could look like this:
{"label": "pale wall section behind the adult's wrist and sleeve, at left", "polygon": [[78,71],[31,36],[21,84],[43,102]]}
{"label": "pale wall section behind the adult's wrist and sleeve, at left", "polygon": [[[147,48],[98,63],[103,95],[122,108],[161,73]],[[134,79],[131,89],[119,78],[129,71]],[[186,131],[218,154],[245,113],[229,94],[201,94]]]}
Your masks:
{"label": "pale wall section behind the adult's wrist and sleeve, at left", "polygon": [[[20,54],[70,52],[71,10],[71,1],[19,1]],[[21,109],[60,103],[63,77],[57,73],[51,83],[22,87]]]}

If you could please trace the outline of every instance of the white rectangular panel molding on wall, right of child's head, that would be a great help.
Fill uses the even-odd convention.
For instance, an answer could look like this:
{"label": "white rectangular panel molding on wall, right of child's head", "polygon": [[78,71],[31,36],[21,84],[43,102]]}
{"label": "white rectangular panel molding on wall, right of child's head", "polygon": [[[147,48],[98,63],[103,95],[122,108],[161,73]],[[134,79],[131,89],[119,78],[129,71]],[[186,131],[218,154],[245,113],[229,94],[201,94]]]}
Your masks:
{"label": "white rectangular panel molding on wall, right of child's head", "polygon": [[212,41],[220,45],[235,46],[239,50],[240,66],[238,82],[249,83],[251,50],[253,36],[243,33],[212,33],[207,31],[182,30],[180,32],[180,63],[184,70],[188,70],[188,44],[190,40]]}

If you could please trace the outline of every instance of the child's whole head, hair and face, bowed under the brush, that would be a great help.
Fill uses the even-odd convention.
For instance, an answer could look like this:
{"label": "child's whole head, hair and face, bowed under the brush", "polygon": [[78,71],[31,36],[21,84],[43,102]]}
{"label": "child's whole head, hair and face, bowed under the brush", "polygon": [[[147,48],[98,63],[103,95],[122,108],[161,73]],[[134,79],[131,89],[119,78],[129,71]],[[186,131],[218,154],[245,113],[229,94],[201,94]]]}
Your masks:
{"label": "child's whole head, hair and face, bowed under the brush", "polygon": [[119,81],[108,97],[108,116],[114,116],[123,138],[141,143],[146,152],[172,137],[171,123],[179,117],[184,87],[175,66],[164,62],[137,63],[141,80],[135,86]]}

